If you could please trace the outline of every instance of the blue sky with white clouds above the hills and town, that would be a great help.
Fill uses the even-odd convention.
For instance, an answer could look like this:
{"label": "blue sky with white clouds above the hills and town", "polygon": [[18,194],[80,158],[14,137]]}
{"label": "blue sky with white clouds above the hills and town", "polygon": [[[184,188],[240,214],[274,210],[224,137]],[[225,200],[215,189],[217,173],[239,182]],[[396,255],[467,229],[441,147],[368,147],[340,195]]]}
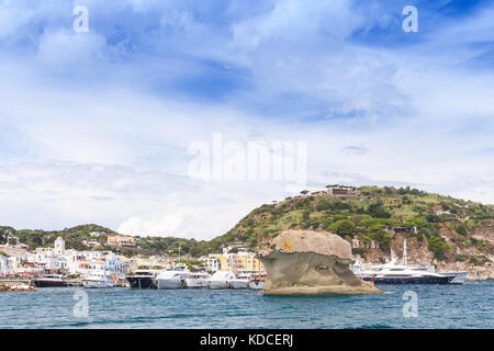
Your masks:
{"label": "blue sky with white clouds above the hills and town", "polygon": [[493,204],[494,1],[0,0],[0,131],[15,228],[211,239],[336,183]]}

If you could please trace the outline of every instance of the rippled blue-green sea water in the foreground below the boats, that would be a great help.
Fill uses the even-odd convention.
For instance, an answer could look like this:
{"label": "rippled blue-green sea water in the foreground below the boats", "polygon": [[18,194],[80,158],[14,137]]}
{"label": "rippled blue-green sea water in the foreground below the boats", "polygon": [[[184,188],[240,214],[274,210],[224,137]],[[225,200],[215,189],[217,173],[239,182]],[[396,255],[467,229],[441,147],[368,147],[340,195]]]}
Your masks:
{"label": "rippled blue-green sea water in the foreground below the boats", "polygon": [[[381,295],[266,296],[256,291],[40,288],[0,293],[1,328],[493,328],[494,282],[381,285]],[[87,293],[87,317],[74,315]],[[406,318],[403,294],[417,297]],[[80,310],[77,309],[76,310]]]}

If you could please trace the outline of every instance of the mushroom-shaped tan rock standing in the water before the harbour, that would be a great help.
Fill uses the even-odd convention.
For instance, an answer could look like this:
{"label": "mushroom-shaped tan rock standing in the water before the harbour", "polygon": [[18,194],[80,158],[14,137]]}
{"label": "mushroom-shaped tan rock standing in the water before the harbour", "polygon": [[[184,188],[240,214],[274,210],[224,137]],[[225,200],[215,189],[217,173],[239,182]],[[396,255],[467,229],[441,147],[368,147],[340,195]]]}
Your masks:
{"label": "mushroom-shaped tan rock standing in the water before the harbour", "polygon": [[270,240],[260,259],[268,273],[265,294],[381,293],[350,271],[350,244],[330,233],[285,230]]}

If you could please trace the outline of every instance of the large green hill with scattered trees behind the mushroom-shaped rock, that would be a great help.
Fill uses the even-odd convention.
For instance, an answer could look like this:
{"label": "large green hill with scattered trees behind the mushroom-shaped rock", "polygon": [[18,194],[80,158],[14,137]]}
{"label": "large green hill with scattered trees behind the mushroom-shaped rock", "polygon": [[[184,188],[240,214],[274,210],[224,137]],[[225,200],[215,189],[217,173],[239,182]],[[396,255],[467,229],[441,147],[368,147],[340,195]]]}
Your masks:
{"label": "large green hill with scattered trees behind the mushroom-shaped rock", "polygon": [[[492,205],[417,189],[361,186],[349,195],[335,196],[323,191],[265,204],[206,247],[215,250],[231,241],[245,241],[255,248],[258,230],[265,237],[272,237],[290,228],[322,229],[349,241],[356,236],[364,244],[379,242],[378,250],[353,250],[369,259],[383,259],[391,247],[401,251],[406,237],[412,254],[417,247],[431,252],[437,260],[485,262],[494,253],[491,237],[486,235],[494,234],[493,218]],[[456,253],[471,248],[476,249],[470,250],[471,254]]]}

